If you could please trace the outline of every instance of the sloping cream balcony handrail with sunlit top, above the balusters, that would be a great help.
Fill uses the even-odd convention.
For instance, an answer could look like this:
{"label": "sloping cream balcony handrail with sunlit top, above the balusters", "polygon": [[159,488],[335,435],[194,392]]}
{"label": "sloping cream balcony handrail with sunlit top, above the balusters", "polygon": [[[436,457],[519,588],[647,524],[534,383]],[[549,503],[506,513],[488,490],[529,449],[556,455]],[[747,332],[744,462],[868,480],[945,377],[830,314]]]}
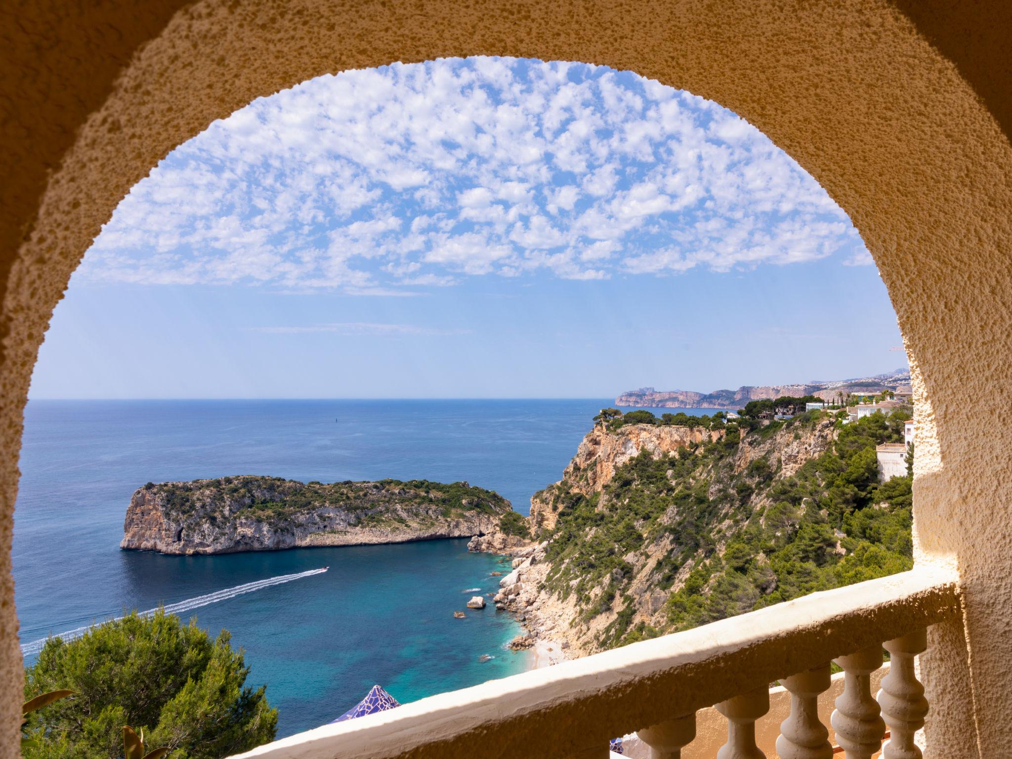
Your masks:
{"label": "sloping cream balcony handrail with sunlit top, above the balusters", "polygon": [[240,756],[578,755],[959,613],[954,572],[917,567],[326,725]]}

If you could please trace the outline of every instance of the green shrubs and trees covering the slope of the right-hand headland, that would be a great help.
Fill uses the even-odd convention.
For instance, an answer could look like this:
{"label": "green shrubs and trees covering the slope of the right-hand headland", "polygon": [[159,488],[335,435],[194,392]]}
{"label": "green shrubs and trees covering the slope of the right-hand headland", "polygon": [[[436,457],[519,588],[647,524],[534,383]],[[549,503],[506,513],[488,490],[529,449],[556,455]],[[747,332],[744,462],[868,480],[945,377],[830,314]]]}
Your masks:
{"label": "green shrubs and trees covering the slope of the right-hand headland", "polygon": [[[795,408],[806,400],[790,399]],[[755,414],[766,402],[758,403]],[[575,595],[577,623],[614,612],[596,641],[611,648],[910,569],[911,477],[879,484],[875,455],[878,443],[902,441],[909,418],[750,417],[678,454],[641,452],[601,493],[557,488],[566,492],[552,493],[559,521],[545,586]],[[785,476],[785,449],[802,440],[824,452]],[[635,578],[647,587],[640,598],[630,595]],[[667,600],[655,624],[634,624],[646,596],[660,592]]]}

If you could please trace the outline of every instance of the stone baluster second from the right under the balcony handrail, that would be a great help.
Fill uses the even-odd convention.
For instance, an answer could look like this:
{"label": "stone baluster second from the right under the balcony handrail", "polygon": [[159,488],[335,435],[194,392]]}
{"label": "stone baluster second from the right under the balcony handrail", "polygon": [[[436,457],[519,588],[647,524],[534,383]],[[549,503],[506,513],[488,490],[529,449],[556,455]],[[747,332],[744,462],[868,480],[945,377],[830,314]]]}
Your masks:
{"label": "stone baluster second from the right under the balcony handrail", "polygon": [[881,646],[870,646],[835,660],[843,668],[843,693],[830,718],[836,742],[847,759],[871,759],[881,750],[886,723],[878,701],[871,697],[871,673],[882,664]]}

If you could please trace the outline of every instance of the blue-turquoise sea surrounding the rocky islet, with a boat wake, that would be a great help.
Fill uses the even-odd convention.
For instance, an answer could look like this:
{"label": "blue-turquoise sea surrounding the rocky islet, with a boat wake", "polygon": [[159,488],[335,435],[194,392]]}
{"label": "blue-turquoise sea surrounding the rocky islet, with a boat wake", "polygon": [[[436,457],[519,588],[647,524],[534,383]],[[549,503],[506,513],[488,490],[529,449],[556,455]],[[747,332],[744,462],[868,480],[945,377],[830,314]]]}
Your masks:
{"label": "blue-turquoise sea surrounding the rocky islet, with a boat wake", "polygon": [[512,614],[453,617],[508,571],[466,539],[162,556],[119,550],[126,506],[147,482],[269,475],[466,481],[526,514],[612,403],[29,401],[13,543],[25,662],[48,636],[165,605],[231,632],[247,684],[265,684],[278,708],[279,738],[336,719],[373,684],[406,703],[522,672],[531,654],[506,648]]}

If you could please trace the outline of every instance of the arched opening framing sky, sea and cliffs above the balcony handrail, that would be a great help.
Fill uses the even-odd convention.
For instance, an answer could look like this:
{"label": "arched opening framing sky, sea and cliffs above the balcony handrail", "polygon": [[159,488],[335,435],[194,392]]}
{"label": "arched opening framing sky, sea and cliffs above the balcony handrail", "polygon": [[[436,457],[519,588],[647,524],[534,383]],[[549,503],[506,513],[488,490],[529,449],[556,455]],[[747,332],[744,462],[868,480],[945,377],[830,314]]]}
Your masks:
{"label": "arched opening framing sky, sea and cliffs above the balcony handrail", "polygon": [[[117,206],[57,307],[26,411],[14,542],[23,651],[34,661],[47,634],[69,640],[82,620],[165,602],[184,620],[231,631],[287,737],[328,722],[374,682],[414,701],[522,670],[527,657],[502,644],[551,619],[560,635],[545,634],[538,650],[558,656],[563,640],[575,658],[909,569],[909,506],[863,510],[882,500],[871,495],[876,472],[862,475],[856,506],[847,503],[814,460],[843,429],[834,420],[849,397],[907,384],[872,377],[905,368],[902,349],[890,352],[901,340],[894,322],[849,220],[715,103],[631,73],[515,59],[303,83],[215,122],[161,162]],[[616,401],[652,376],[732,390],[708,401]],[[798,383],[812,377],[838,382]],[[807,400],[832,410],[773,405],[748,421],[723,419],[750,401],[815,393]],[[419,397],[456,403],[401,400]],[[469,398],[478,400],[459,400]],[[615,403],[651,407],[640,412],[651,421],[637,433],[645,440],[622,437],[639,428],[630,421],[619,434],[618,419],[588,433]],[[882,425],[881,440],[899,440],[899,430]],[[744,444],[716,445],[725,432]],[[585,433],[589,444],[634,442],[636,453],[660,445],[648,467],[657,471],[644,475],[654,479],[671,454],[691,460],[686,445],[712,459],[669,475],[670,492],[635,474],[606,495],[610,475],[585,489],[614,504],[644,501],[628,519],[609,508],[597,525],[619,554],[644,558],[614,559],[611,544],[594,544],[589,502],[535,496],[583,488],[563,473]],[[447,444],[449,436],[458,440]],[[873,458],[879,440],[856,436]],[[852,452],[832,466],[846,470]],[[624,477],[631,465],[617,470],[629,457],[595,466]],[[809,459],[805,483],[788,484]],[[440,606],[467,600],[456,597],[462,589],[486,595],[472,587],[478,578],[491,583],[491,598],[498,582],[488,567],[445,571],[447,557],[468,560],[462,541],[455,553],[412,544],[218,556],[291,544],[269,515],[230,531],[231,512],[252,508],[238,475],[318,486],[467,481],[524,515],[537,499],[557,532],[577,536],[544,564],[558,578],[543,611],[503,604],[524,627],[492,613],[461,626]],[[700,477],[712,479],[712,497],[688,498]],[[236,497],[194,519],[157,496],[145,500],[189,498],[162,484],[197,480]],[[783,486],[778,495],[761,495],[773,483]],[[698,513],[665,513],[678,498]],[[805,499],[825,499],[826,517]],[[135,509],[135,500],[144,503]],[[854,508],[899,520],[902,550],[844,524]],[[59,526],[50,521],[57,513]],[[816,530],[804,556],[794,546],[803,513]],[[369,516],[381,529],[382,515]],[[329,530],[314,529],[294,544],[328,544]],[[547,539],[552,527],[532,529]],[[197,556],[122,554],[120,538]],[[76,547],[46,572],[53,540]],[[883,552],[878,566],[859,563],[872,545]],[[323,565],[331,573],[313,575]],[[618,579],[608,580],[612,570]],[[718,590],[667,603],[693,572],[696,585],[705,574]],[[373,573],[380,588],[369,587]],[[297,575],[315,579],[287,585]],[[77,584],[86,577],[101,578],[91,593]],[[561,591],[571,579],[573,608]],[[432,592],[454,584],[449,600]],[[685,598],[705,608],[686,613]],[[479,635],[477,624],[488,629]]]}

